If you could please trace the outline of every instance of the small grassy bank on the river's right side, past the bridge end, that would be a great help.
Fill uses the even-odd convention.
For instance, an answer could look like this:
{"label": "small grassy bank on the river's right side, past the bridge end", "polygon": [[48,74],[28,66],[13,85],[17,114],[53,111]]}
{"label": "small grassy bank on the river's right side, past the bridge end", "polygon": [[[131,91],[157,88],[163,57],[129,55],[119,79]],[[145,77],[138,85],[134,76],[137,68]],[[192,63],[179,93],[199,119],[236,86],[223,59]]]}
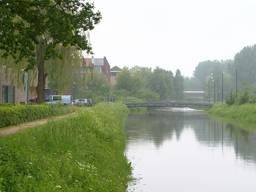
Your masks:
{"label": "small grassy bank on the river's right side, past the bridge end", "polygon": [[256,125],[256,104],[216,105],[209,113],[242,124]]}

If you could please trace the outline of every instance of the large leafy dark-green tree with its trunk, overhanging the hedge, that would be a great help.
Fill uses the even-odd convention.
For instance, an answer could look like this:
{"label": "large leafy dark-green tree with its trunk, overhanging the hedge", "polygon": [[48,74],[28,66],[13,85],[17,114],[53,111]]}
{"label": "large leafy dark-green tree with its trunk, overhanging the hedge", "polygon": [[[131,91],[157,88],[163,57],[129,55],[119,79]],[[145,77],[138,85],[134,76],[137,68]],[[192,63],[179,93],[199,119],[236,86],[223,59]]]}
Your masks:
{"label": "large leafy dark-green tree with its trunk, overhanging the hedge", "polygon": [[1,0],[0,50],[27,69],[37,68],[38,101],[44,101],[45,61],[58,56],[57,45],[91,51],[86,31],[99,23],[101,14],[84,0]]}

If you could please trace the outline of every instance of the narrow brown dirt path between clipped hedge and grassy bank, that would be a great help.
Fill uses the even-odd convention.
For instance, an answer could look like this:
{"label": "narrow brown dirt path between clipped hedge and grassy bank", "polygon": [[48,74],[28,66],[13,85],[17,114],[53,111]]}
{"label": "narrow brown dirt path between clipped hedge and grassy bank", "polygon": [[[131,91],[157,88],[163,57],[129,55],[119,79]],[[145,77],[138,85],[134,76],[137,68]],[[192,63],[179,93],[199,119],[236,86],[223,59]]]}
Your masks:
{"label": "narrow brown dirt path between clipped hedge and grassy bank", "polygon": [[50,117],[47,119],[40,119],[36,121],[31,121],[27,123],[22,123],[20,125],[15,125],[15,126],[10,126],[6,128],[0,128],[0,137],[7,136],[7,135],[12,135],[17,133],[18,131],[24,130],[24,129],[30,129],[36,126],[44,125],[47,124],[49,121],[55,121],[55,120],[60,120],[64,118],[68,118],[71,116],[74,116],[76,113],[70,113],[66,115],[61,115],[61,116],[55,116],[55,117]]}

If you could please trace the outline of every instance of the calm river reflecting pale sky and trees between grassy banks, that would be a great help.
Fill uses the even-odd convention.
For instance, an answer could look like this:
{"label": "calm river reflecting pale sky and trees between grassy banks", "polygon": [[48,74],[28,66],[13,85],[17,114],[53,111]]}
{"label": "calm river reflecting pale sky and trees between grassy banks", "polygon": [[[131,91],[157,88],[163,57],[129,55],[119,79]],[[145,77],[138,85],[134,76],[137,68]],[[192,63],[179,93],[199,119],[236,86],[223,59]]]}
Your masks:
{"label": "calm river reflecting pale sky and trees between grassy banks", "polygon": [[256,191],[256,133],[185,109],[130,115],[125,131],[128,192]]}

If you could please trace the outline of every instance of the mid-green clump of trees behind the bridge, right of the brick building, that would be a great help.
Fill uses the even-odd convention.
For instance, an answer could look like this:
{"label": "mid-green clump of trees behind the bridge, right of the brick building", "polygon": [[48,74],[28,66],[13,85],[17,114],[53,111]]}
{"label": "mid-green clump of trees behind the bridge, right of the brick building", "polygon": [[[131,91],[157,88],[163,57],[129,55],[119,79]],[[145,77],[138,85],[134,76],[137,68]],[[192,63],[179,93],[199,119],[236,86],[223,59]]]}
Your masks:
{"label": "mid-green clump of trees behind the bridge, right of the brick building", "polygon": [[183,90],[183,77],[179,70],[173,75],[171,71],[161,68],[152,70],[145,67],[133,67],[124,68],[118,75],[113,94],[143,100],[180,100],[183,98]]}

